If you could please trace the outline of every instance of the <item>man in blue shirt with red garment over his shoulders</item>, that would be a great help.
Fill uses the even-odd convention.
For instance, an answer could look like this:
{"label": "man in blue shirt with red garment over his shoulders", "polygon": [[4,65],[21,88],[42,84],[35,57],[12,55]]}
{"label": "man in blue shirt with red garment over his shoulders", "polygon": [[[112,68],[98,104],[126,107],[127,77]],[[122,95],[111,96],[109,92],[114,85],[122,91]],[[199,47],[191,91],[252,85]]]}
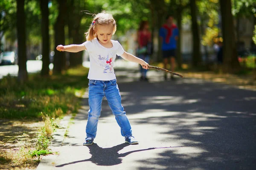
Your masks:
{"label": "man in blue shirt with red garment over his shoulders", "polygon": [[[170,60],[171,71],[174,72],[175,69],[175,51],[177,48],[177,39],[179,35],[179,30],[177,26],[173,23],[173,16],[168,15],[166,17],[166,23],[160,28],[159,36],[162,42],[163,51],[163,64],[164,68],[167,69],[168,60]],[[167,79],[167,74],[165,73],[164,79]],[[173,79],[173,75],[171,76]]]}

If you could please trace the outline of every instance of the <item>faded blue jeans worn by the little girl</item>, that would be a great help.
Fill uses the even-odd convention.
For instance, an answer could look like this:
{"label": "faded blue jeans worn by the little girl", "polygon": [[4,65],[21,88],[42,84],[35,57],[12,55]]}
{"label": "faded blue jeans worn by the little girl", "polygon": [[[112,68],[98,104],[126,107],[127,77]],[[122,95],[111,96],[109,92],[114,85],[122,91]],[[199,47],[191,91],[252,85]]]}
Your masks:
{"label": "faded blue jeans worn by the little girl", "polygon": [[102,99],[106,97],[116,122],[121,128],[121,134],[125,138],[132,135],[131,125],[121,105],[121,95],[119,93],[116,79],[110,81],[89,80],[89,106],[88,121],[86,125],[87,137],[95,138],[97,125],[102,107]]}

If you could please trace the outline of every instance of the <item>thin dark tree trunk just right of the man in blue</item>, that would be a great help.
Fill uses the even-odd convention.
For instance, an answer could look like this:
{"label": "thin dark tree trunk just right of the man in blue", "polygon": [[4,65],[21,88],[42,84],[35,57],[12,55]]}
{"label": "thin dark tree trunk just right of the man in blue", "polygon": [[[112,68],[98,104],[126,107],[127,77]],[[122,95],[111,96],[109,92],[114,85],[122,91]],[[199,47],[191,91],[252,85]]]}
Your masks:
{"label": "thin dark tree trunk just right of the man in blue", "polygon": [[181,19],[182,19],[182,10],[181,10],[181,8],[177,8],[177,25],[179,28],[179,38],[177,40],[177,66],[178,66],[178,68],[181,68],[181,64],[182,64],[181,36],[180,36],[181,31],[182,31]]}

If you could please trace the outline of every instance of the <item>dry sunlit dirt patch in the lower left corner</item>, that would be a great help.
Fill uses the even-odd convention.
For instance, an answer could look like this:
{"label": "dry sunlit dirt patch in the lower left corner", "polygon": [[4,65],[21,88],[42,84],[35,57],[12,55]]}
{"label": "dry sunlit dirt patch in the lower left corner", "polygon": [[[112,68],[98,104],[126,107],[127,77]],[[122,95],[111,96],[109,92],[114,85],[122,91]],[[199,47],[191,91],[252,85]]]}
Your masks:
{"label": "dry sunlit dirt patch in the lower left corner", "polygon": [[36,169],[38,159],[28,152],[35,150],[37,133],[43,125],[35,120],[0,120],[0,169]]}

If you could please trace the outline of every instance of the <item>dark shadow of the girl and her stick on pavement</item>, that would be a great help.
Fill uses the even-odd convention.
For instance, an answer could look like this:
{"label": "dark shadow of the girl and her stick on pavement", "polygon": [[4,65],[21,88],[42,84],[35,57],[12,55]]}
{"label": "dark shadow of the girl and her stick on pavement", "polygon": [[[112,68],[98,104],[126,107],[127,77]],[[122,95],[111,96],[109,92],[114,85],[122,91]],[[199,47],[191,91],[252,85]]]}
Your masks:
{"label": "dark shadow of the girl and her stick on pavement", "polygon": [[[129,144],[123,143],[123,144],[119,144],[109,148],[102,148],[102,147],[99,147],[98,144],[94,143],[92,145],[87,146],[90,150],[90,154],[92,155],[90,159],[73,161],[67,164],[60,164],[60,165],[57,165],[56,167],[63,167],[65,165],[76,164],[76,163],[85,162],[85,161],[91,161],[94,164],[100,165],[100,166],[112,166],[116,164],[121,164],[122,163],[121,158],[129,155],[130,153],[157,149],[157,147],[151,147],[148,149],[133,150],[133,151],[129,151],[121,154],[118,153],[119,150],[122,150],[124,147],[127,147],[127,146],[129,146]],[[163,147],[159,147],[159,148],[163,148]]]}

